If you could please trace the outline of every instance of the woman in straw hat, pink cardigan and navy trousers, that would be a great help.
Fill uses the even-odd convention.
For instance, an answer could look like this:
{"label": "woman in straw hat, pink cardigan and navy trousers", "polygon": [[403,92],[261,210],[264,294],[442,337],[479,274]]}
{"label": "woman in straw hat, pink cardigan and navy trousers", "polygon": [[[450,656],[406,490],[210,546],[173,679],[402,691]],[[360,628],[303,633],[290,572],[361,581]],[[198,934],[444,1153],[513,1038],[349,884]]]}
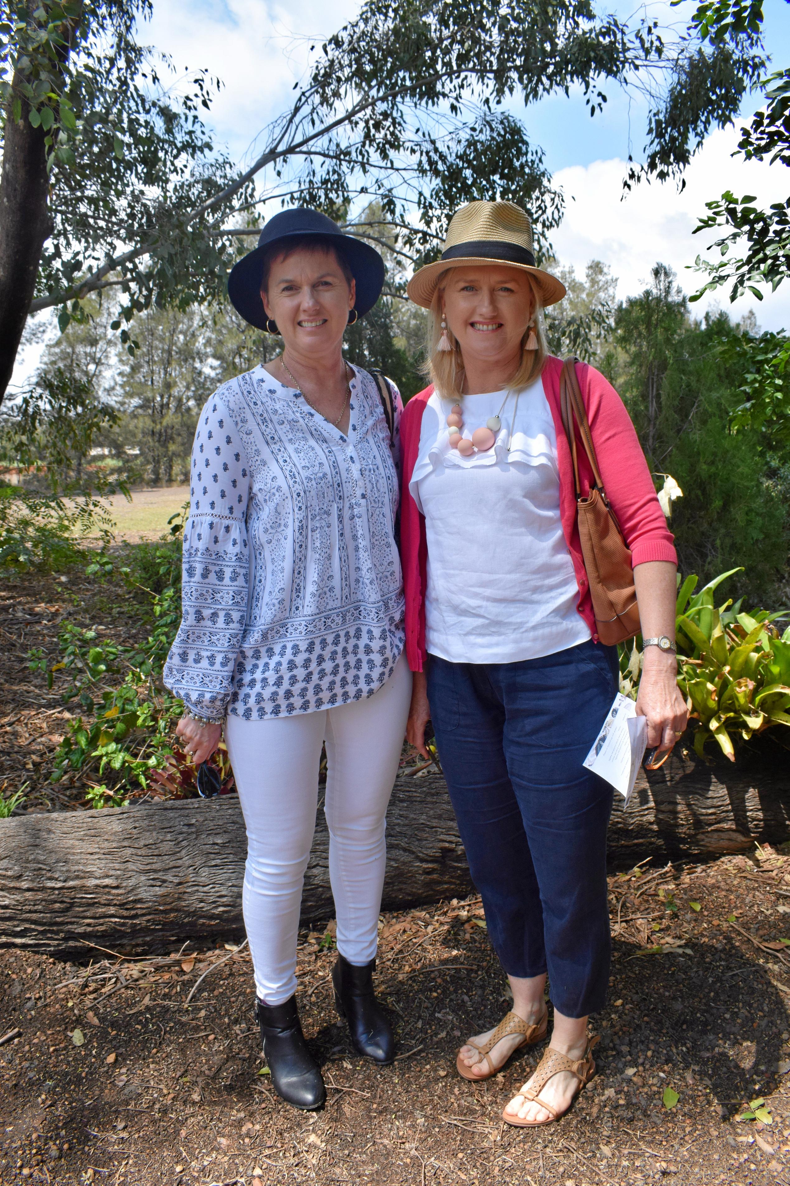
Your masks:
{"label": "woman in straw hat, pink cardigan and navy trousers", "polygon": [[[441,260],[412,279],[431,312],[432,385],[401,423],[408,739],[433,721],[488,933],[512,1009],[458,1053],[488,1079],[554,1029],[509,1124],[565,1112],[594,1071],[588,1014],[606,996],[606,828],[612,789],[582,763],[618,690],[617,649],[598,640],[576,528],[561,362],[542,310],[565,288],[535,266],[529,218],[472,202]],[[637,712],[669,750],[686,725],[674,629],[676,556],[619,397],[591,366],[580,382],[604,485],[632,551],[644,672]]]}

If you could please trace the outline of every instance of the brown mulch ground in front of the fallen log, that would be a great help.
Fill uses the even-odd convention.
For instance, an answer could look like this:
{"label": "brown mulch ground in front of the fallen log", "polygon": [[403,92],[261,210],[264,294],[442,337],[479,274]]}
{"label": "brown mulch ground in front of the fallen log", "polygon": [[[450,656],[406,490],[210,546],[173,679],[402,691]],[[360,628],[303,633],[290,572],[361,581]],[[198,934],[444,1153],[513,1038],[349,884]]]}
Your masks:
{"label": "brown mulch ground in front of the fallen log", "polygon": [[[611,908],[598,1075],[560,1123],[527,1131],[499,1117],[540,1048],[485,1084],[454,1070],[508,1005],[477,899],[382,918],[386,1069],[333,1012],[331,926],[301,933],[300,1009],[329,1089],[314,1115],[270,1088],[244,949],[79,965],[5,951],[0,1182],[790,1182],[790,857],[620,874]],[[756,1097],[772,1123],[737,1118]]]}

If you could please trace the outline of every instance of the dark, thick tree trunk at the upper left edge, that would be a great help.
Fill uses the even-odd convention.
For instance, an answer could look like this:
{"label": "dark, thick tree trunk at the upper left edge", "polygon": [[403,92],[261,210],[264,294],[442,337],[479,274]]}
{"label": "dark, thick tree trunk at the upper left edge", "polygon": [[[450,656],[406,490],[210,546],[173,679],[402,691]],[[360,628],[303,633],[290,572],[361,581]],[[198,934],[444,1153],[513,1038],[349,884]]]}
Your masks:
{"label": "dark, thick tree trunk at the upper left edge", "polygon": [[[12,93],[18,94],[14,75]],[[21,120],[6,109],[0,177],[0,403],[13,375],[42,248],[52,232],[44,128],[32,127],[23,98]]]}

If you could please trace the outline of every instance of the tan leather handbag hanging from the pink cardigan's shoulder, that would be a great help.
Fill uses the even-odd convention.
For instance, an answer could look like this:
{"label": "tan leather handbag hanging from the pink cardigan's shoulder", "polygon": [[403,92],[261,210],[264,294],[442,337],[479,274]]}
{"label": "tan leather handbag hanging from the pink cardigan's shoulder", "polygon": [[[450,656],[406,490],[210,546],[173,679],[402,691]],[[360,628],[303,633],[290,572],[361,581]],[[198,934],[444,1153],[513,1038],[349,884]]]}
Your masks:
{"label": "tan leather handbag hanging from the pink cardigan's shoulder", "polygon": [[[609,505],[590,421],[581,397],[576,358],[567,358],[560,376],[560,408],[562,423],[573,458],[573,479],[576,491],[576,521],[581,554],[590,581],[590,595],[595,614],[595,630],[601,643],[613,645],[639,632],[639,610],[633,586],[631,553],[625,546],[620,525]],[[576,433],[585,447],[595,484],[582,497],[576,457]]]}

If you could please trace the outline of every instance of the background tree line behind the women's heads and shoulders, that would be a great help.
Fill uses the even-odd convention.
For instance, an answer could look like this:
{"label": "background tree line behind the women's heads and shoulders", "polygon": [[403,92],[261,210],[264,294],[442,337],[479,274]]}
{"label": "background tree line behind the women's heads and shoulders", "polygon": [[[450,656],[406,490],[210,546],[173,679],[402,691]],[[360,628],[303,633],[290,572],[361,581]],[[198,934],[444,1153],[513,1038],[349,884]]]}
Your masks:
{"label": "background tree line behind the women's heads and shoulders", "polygon": [[[584,278],[558,264],[554,270],[568,296],[546,312],[550,349],[588,359],[612,381],[657,486],[668,473],[680,484],[671,527],[681,569],[705,580],[744,566],[739,592],[785,604],[790,434],[783,416],[744,414],[750,359],[765,338],[754,315],[739,324],[725,312],[695,319],[661,263],[644,292],[620,302],[599,261]],[[6,406],[2,460],[26,466],[23,482],[31,489],[187,482],[200,407],[219,383],[272,359],[280,339],[246,325],[228,306],[151,308],[135,320],[138,347],[129,356],[110,327],[112,301],[94,301],[84,321],[46,346],[26,400]],[[403,300],[382,298],[349,329],[346,357],[380,366],[407,400],[425,385],[423,317]]]}

